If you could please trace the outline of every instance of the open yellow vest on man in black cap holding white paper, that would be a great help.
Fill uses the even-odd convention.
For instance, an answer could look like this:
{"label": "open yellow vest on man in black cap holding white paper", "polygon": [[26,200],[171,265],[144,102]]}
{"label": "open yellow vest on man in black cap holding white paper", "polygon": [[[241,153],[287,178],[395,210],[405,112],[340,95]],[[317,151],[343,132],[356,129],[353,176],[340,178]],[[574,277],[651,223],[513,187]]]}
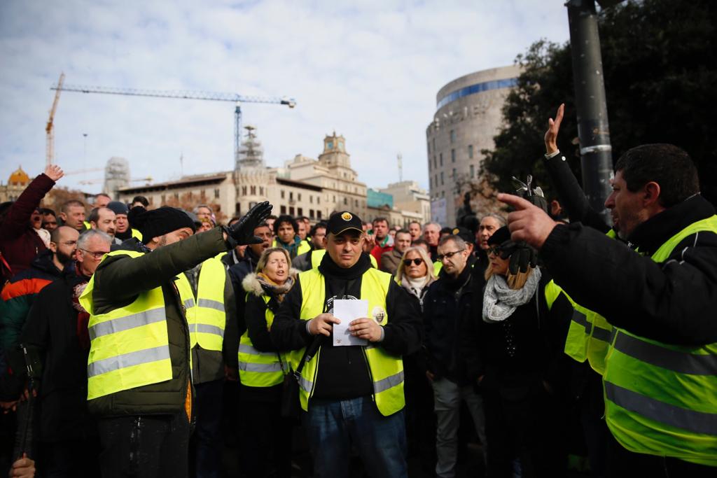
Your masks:
{"label": "open yellow vest on man in black cap holding white paper", "polygon": [[[386,325],[391,320],[386,310],[386,295],[389,292],[391,279],[391,274],[386,274],[386,272],[381,272],[374,268],[366,270],[364,275],[361,276],[360,299],[368,300],[369,316],[379,317],[381,325]],[[326,302],[325,279],[318,269],[310,269],[299,274],[299,282],[303,296],[300,319],[311,320],[323,312]],[[374,314],[374,311],[380,311],[381,313]],[[366,362],[369,364],[369,372],[371,373],[371,381],[374,387],[374,400],[379,412],[384,416],[389,416],[402,410],[406,404],[402,358],[386,353],[380,344],[369,343],[369,345],[363,347],[363,350]],[[318,349],[318,352],[315,353],[311,360],[305,363],[301,371],[299,398],[301,407],[304,410],[308,410],[308,402],[314,391],[316,377],[320,373],[318,370],[320,353],[321,348]],[[302,355],[303,349],[292,354],[293,370],[297,368],[298,360]]]}

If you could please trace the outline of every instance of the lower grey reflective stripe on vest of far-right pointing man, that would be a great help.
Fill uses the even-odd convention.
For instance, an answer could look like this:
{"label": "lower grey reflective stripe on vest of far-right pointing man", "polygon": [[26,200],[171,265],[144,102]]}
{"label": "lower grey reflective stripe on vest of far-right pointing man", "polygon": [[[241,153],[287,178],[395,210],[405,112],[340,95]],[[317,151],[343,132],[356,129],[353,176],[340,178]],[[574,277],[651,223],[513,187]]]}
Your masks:
{"label": "lower grey reflective stripe on vest of far-right pointing man", "polygon": [[[622,334],[621,334],[622,335]],[[717,435],[717,414],[688,410],[605,382],[605,395],[617,405],[647,419],[693,433]]]}

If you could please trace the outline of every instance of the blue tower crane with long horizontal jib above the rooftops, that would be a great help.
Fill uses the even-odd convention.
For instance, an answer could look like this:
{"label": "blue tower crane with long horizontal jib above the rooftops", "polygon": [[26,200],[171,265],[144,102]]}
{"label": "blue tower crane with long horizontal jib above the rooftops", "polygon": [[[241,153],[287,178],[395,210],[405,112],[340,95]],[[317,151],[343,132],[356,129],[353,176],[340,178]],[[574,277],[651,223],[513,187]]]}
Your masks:
{"label": "blue tower crane with long horizontal jib above the rooftops", "polygon": [[125,96],[146,96],[156,98],[175,98],[181,100],[209,100],[209,101],[231,101],[234,102],[234,161],[239,159],[239,146],[242,140],[242,107],[241,103],[268,103],[274,105],[287,105],[290,108],[296,106],[296,100],[290,97],[262,97],[245,96],[237,93],[186,91],[186,90],[138,90],[136,88],[115,88],[103,86],[78,86],[62,85],[60,82],[50,90],[71,91],[81,93],[101,93],[103,95],[125,95]]}

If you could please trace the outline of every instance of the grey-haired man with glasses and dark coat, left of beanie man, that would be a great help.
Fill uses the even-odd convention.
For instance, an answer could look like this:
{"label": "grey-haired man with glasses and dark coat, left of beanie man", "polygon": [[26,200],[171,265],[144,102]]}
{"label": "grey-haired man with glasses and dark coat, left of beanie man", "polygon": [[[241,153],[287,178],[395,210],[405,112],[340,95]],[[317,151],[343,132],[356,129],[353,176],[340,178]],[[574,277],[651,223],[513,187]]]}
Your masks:
{"label": "grey-haired man with glasses and dark coat, left of beanie man", "polygon": [[96,477],[100,472],[97,424],[87,413],[90,314],[79,297],[110,244],[112,238],[103,231],[83,232],[74,264],[40,292],[22,330],[22,343],[42,360],[36,462],[47,476]]}

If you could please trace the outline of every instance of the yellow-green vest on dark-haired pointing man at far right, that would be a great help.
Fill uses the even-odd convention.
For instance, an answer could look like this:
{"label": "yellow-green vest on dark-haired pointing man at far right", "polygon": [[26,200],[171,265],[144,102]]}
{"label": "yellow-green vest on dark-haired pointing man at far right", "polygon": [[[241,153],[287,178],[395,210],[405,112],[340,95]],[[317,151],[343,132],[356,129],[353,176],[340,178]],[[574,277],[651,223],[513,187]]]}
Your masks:
{"label": "yellow-green vest on dark-haired pointing man at far right", "polygon": [[[717,216],[675,234],[652,260],[664,262],[701,231],[717,233]],[[619,444],[717,467],[717,343],[670,345],[615,328],[603,385],[605,420]]]}

